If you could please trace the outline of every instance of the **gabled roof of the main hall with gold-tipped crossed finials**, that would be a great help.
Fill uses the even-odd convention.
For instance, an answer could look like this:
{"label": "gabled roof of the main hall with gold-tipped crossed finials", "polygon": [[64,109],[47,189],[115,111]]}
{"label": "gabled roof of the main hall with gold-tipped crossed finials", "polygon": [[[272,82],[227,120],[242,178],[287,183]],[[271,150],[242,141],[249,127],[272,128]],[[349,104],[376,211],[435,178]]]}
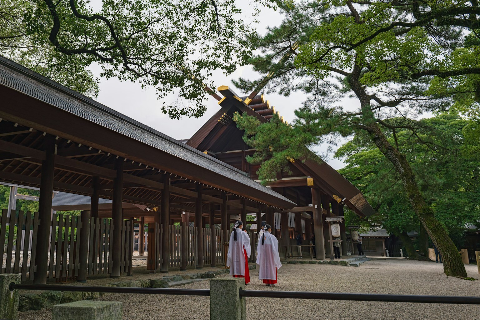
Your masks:
{"label": "gabled roof of the main hall with gold-tipped crossed finials", "polygon": [[[238,132],[236,138],[242,136],[242,132],[236,128],[235,123],[226,117],[228,113],[232,113],[232,110],[236,110],[240,114],[246,112],[248,115],[255,116],[261,122],[270,121],[274,114],[278,115],[274,107],[264,100],[263,95],[257,95],[249,101],[248,98],[236,95],[227,86],[219,87],[218,91],[224,95],[224,98],[218,102],[221,109],[187,142],[188,145],[201,151],[202,148],[218,143],[222,136],[225,141],[228,141],[228,138],[224,135],[233,130]],[[249,102],[249,105],[245,101]],[[224,114],[226,116],[222,118]],[[340,198],[349,209],[359,216],[369,216],[375,212],[361,191],[321,158],[317,157],[317,161],[310,159],[304,162],[295,161],[293,165],[307,176],[311,176],[315,184],[324,190],[325,193],[333,198]]]}

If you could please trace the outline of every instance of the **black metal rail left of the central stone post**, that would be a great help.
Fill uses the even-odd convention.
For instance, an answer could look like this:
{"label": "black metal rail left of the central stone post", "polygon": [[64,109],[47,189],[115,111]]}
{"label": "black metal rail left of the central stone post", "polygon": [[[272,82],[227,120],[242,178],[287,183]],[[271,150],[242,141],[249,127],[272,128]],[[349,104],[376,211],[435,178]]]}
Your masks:
{"label": "black metal rail left of the central stone post", "polygon": [[210,296],[209,289],[94,287],[83,285],[10,284],[10,290],[56,290],[79,292],[134,293],[149,295]]}

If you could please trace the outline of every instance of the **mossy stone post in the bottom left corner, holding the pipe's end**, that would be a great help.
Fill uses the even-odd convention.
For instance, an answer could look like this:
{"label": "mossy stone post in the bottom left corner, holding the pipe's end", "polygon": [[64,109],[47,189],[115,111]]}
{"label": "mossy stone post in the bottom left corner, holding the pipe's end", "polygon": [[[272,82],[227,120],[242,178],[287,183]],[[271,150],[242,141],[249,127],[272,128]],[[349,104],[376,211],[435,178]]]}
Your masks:
{"label": "mossy stone post in the bottom left corner, holding the pipe's end", "polygon": [[20,284],[21,274],[0,274],[0,319],[18,319],[18,290],[10,291],[10,284]]}

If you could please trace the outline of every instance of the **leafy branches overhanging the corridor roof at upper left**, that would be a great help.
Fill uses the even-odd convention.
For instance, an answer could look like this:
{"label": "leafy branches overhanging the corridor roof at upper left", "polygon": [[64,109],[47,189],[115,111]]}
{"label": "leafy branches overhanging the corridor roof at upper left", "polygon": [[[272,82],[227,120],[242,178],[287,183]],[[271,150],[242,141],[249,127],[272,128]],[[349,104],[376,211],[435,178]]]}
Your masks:
{"label": "leafy branches overhanging the corridor roof at upper left", "polygon": [[243,19],[234,0],[105,0],[98,10],[87,0],[6,0],[0,54],[91,97],[95,63],[101,76],[155,88],[171,118],[199,117],[212,72],[230,74],[250,57],[255,20]]}

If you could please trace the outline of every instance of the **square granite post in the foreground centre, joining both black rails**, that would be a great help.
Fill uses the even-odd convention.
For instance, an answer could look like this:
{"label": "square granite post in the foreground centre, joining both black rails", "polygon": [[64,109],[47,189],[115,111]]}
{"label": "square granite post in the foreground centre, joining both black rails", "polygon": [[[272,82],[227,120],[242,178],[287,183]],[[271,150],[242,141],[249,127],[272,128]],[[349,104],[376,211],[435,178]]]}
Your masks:
{"label": "square granite post in the foreground centre, joining both black rails", "polygon": [[245,279],[210,280],[210,320],[246,320],[245,297],[240,297],[240,289],[245,289]]}

